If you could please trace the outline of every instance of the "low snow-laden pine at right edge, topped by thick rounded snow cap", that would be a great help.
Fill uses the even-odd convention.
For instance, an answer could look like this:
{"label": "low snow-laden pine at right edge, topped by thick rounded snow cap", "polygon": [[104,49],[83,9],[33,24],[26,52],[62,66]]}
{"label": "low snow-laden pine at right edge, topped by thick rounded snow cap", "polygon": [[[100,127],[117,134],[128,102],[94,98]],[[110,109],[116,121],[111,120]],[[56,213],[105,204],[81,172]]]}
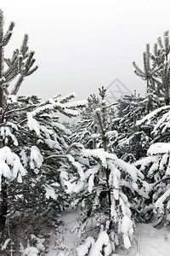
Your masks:
{"label": "low snow-laden pine at right edge, topped by thick rounded snow cap", "polygon": [[145,220],[155,213],[154,226],[170,223],[169,150],[169,143],[153,143],[148,156],[135,163],[150,183],[150,201],[145,201],[143,212]]}

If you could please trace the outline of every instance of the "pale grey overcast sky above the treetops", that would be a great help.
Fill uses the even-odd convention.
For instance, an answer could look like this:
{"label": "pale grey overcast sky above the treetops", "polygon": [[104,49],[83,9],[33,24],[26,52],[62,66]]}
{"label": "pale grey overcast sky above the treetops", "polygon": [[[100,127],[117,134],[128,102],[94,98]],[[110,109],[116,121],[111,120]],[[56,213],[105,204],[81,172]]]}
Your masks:
{"label": "pale grey overcast sky above the treetops", "polygon": [[170,29],[169,0],[1,0],[0,8],[5,27],[15,21],[5,55],[20,47],[25,33],[36,52],[39,69],[20,93],[43,99],[72,91],[86,99],[115,79],[144,95],[132,62],[142,67],[145,44]]}

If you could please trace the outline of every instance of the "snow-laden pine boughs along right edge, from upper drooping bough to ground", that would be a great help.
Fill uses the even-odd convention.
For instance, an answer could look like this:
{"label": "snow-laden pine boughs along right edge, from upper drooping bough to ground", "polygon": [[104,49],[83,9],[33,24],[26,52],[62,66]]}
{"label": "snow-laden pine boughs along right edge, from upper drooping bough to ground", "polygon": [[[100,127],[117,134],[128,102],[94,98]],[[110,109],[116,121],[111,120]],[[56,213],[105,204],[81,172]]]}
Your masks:
{"label": "snow-laden pine boughs along right edge, from upper drooping bough to ground", "polygon": [[[147,156],[134,165],[150,183],[150,200],[144,202],[143,212],[145,220],[150,219],[153,213],[156,214],[155,226],[169,224],[169,115],[170,107],[167,105],[137,121],[138,127],[150,125],[152,140]],[[147,211],[149,214],[146,214]]]}

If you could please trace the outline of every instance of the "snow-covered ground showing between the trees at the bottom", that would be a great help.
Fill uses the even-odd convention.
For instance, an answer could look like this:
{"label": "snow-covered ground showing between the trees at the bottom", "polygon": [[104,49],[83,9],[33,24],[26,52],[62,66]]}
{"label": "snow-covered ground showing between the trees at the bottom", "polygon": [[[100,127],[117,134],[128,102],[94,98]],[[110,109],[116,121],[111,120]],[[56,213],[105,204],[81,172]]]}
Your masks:
{"label": "snow-covered ground showing between the trees at the bottom", "polygon": [[[80,239],[69,231],[77,218],[72,210],[63,213],[65,221],[63,239],[45,256],[77,256],[76,248]],[[56,237],[57,238],[57,237]],[[154,228],[152,224],[137,224],[134,232],[133,247],[128,250],[117,250],[111,256],[168,256],[170,255],[170,227]]]}

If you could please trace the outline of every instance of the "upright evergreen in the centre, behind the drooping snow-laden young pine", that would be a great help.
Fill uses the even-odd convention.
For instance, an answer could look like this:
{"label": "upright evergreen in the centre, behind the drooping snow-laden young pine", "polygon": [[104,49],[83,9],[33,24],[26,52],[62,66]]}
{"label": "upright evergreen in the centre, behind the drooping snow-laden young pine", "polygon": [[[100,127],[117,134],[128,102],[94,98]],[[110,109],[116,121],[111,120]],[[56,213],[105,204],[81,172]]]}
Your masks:
{"label": "upright evergreen in the centre, behind the drooping snow-laden young pine", "polygon": [[71,142],[81,142],[85,148],[107,148],[114,150],[114,140],[117,132],[113,120],[116,118],[115,104],[107,105],[106,90],[99,89],[99,97],[88,97],[86,108],[81,112],[81,119],[71,128]]}

